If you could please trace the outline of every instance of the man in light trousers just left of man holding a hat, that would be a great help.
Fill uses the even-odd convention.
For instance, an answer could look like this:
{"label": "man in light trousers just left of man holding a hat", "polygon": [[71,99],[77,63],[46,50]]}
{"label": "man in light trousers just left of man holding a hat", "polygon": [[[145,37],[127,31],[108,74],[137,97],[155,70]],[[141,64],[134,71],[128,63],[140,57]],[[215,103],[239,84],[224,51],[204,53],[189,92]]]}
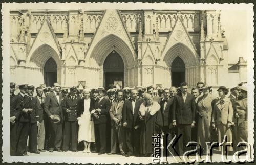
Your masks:
{"label": "man in light trousers just left of man holding a hat", "polygon": [[44,121],[44,103],[45,98],[42,97],[43,89],[37,87],[35,98],[35,114],[37,120],[37,148],[40,152],[45,152],[45,121]]}

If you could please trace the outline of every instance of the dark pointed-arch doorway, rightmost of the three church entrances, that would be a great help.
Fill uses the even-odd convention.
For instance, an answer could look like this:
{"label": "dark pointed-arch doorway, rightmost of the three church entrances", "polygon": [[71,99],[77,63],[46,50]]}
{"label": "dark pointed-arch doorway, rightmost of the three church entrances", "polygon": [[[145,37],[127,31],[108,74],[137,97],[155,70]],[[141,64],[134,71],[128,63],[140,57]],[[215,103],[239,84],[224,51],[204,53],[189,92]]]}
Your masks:
{"label": "dark pointed-arch doorway, rightmost of the three church entrances", "polygon": [[185,82],[185,64],[180,57],[176,57],[172,63],[172,86],[180,87]]}

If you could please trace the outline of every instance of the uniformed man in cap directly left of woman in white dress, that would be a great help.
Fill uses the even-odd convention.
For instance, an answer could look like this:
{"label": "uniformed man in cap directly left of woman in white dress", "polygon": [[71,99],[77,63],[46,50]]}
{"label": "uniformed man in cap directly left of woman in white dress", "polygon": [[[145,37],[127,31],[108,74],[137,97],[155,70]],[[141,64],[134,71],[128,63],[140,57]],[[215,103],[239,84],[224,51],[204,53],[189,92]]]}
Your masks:
{"label": "uniformed man in cap directly left of woman in white dress", "polygon": [[62,110],[65,116],[63,152],[69,150],[69,144],[71,144],[71,151],[77,152],[77,114],[78,104],[81,99],[75,95],[76,91],[76,86],[71,87],[70,93],[62,101]]}

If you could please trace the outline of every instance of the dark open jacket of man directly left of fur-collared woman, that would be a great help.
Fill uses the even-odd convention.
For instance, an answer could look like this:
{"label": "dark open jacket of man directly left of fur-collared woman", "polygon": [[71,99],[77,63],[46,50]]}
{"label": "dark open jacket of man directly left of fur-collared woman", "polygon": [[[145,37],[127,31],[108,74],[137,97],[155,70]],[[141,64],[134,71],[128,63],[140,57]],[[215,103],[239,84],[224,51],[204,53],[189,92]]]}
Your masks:
{"label": "dark open jacket of man directly left of fur-collared woman", "polygon": [[125,100],[123,103],[123,123],[127,123],[127,128],[133,128],[139,124],[139,109],[143,102],[136,99],[133,113],[132,100]]}

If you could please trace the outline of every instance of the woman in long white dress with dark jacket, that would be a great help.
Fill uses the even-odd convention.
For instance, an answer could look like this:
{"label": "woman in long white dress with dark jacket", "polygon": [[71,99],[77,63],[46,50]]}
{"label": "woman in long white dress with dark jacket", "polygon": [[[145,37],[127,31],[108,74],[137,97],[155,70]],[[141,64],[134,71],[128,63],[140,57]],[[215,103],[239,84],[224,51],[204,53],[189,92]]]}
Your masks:
{"label": "woman in long white dress with dark jacket", "polygon": [[92,100],[90,99],[90,89],[84,89],[84,98],[81,99],[79,105],[79,114],[78,114],[78,142],[84,143],[83,152],[91,152],[90,146],[92,142],[95,142],[94,137],[94,124],[93,119],[91,118],[92,111]]}

